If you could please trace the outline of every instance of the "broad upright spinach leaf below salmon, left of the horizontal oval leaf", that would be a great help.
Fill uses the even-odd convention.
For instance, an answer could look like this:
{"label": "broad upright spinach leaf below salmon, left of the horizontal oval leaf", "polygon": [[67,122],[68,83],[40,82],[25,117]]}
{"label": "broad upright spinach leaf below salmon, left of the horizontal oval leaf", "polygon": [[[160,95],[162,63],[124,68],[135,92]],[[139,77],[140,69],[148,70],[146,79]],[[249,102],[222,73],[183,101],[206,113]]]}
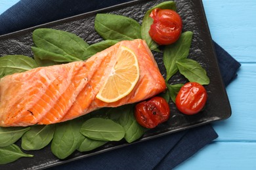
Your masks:
{"label": "broad upright spinach leaf below salmon, left of the horizontal oval leaf", "polygon": [[67,158],[80,146],[82,135],[79,129],[82,124],[83,118],[81,117],[56,124],[51,143],[51,150],[56,157]]}

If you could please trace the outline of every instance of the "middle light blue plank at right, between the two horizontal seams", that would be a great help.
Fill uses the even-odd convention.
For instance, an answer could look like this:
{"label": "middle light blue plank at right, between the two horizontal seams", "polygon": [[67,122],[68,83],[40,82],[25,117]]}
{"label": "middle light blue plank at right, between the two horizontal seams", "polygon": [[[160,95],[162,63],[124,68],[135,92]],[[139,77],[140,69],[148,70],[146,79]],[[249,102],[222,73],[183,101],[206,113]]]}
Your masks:
{"label": "middle light blue plank at right, between the two horizontal seams", "polygon": [[256,141],[256,64],[245,63],[227,87],[232,116],[216,122],[217,141]]}

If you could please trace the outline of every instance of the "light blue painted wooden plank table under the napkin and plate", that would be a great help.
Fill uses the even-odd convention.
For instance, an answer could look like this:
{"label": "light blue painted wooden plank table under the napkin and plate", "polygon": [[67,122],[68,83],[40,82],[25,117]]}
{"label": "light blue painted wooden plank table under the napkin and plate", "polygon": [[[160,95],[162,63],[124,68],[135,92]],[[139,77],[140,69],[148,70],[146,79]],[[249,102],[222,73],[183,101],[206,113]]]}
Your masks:
{"label": "light blue painted wooden plank table under the napkin and plate", "polygon": [[[0,14],[18,0],[1,0]],[[176,169],[256,169],[256,1],[203,0],[211,36],[242,63],[226,90],[228,120],[215,122],[219,138]]]}

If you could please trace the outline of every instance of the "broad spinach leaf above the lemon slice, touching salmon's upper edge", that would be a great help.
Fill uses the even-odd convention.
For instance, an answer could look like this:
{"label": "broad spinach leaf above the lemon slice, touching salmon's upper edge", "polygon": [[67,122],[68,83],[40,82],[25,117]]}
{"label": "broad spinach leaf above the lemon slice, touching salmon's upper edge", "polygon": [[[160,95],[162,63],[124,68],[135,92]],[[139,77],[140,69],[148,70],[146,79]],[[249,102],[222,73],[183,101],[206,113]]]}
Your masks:
{"label": "broad spinach leaf above the lemon slice, touching salmon's upper edge", "polygon": [[116,41],[141,39],[139,22],[116,14],[96,14],[95,30],[103,39]]}

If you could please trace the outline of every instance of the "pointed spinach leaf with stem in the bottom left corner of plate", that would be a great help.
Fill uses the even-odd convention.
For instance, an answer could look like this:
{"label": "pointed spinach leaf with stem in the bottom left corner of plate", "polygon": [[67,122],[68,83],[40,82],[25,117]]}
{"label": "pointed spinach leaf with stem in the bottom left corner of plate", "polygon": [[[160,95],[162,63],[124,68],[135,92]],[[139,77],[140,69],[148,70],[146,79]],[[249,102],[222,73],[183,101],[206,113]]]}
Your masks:
{"label": "pointed spinach leaf with stem in the bottom left corner of plate", "polygon": [[16,144],[11,144],[9,146],[0,147],[0,164],[10,163],[12,161],[18,160],[22,157],[33,157],[33,155],[25,154],[20,150]]}

